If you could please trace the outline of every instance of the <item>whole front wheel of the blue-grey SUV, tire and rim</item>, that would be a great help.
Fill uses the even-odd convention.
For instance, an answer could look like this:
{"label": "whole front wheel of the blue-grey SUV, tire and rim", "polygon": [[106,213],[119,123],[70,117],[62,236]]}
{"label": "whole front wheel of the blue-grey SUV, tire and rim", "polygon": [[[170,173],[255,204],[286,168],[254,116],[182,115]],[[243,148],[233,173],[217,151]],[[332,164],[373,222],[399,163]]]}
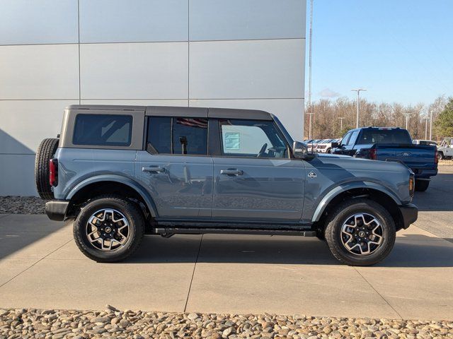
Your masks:
{"label": "whole front wheel of the blue-grey SUV, tire and rim", "polygon": [[326,240],[333,256],[351,266],[382,261],[393,249],[396,229],[389,212],[375,201],[341,203],[327,220]]}

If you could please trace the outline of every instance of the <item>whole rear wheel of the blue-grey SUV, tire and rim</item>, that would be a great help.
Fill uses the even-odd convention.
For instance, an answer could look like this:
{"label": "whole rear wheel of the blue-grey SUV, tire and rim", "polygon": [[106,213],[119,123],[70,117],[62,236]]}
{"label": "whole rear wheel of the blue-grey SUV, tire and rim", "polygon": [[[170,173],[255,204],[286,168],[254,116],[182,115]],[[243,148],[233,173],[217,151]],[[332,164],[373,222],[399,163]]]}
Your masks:
{"label": "whole rear wheel of the blue-grey SUV, tire and rim", "polygon": [[93,199],[74,222],[74,239],[85,256],[108,263],[121,261],[137,251],[144,235],[139,207],[118,196]]}

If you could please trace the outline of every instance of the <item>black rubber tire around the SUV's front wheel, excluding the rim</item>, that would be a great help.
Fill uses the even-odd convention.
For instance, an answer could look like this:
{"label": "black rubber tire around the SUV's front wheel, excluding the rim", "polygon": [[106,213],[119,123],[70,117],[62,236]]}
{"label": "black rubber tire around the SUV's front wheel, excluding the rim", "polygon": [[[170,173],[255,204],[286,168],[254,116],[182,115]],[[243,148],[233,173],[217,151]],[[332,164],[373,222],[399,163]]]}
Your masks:
{"label": "black rubber tire around the SUV's front wheel, excluding the rim", "polygon": [[[382,225],[383,240],[376,251],[367,255],[352,254],[341,240],[341,227],[351,215],[369,213]],[[389,255],[396,238],[396,228],[390,213],[379,203],[366,198],[352,198],[340,203],[329,213],[326,220],[326,241],[333,256],[349,266],[370,266],[379,263]]]}

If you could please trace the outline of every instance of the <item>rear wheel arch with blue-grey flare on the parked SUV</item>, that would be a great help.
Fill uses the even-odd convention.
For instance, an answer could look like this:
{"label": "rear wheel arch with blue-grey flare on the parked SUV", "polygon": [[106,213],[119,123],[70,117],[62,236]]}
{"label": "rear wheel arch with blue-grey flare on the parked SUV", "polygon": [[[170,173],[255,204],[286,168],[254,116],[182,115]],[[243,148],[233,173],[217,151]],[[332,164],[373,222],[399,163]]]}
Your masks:
{"label": "rear wheel arch with blue-grey flare on the parked SUV", "polygon": [[119,175],[101,175],[85,179],[74,186],[66,198],[73,205],[79,201],[87,200],[98,194],[119,194],[128,198],[135,198],[143,203],[151,217],[158,216],[156,205],[146,189],[127,177]]}

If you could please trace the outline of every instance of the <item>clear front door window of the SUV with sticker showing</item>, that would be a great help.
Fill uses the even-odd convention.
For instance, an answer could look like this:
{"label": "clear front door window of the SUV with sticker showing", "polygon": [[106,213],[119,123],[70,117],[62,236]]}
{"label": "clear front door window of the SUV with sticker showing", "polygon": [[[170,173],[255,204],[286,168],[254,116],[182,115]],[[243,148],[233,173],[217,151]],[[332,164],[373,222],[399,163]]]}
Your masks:
{"label": "clear front door window of the SUV with sticker showing", "polygon": [[287,145],[272,121],[219,120],[222,155],[287,157]]}

